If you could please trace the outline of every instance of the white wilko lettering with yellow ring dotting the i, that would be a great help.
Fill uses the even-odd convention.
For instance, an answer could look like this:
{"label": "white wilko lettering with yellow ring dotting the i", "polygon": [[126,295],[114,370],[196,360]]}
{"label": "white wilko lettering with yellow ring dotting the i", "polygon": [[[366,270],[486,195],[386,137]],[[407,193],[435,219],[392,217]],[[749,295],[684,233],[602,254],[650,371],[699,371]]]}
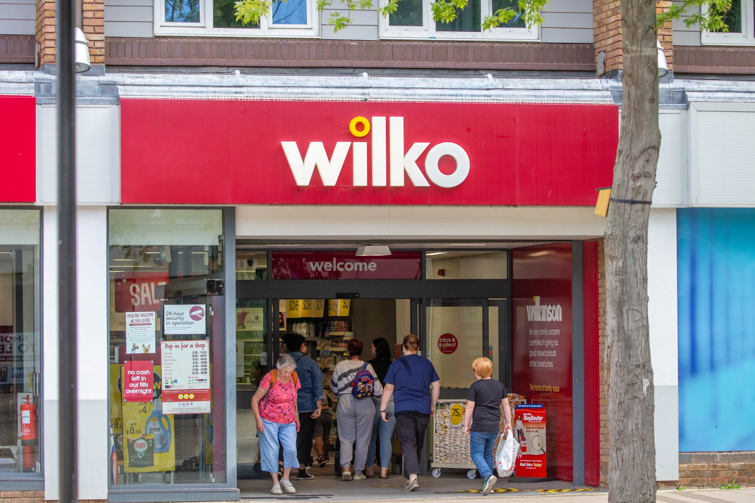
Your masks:
{"label": "white wilko lettering with yellow ring dotting the i", "polygon": [[[362,130],[356,128],[356,124],[362,124]],[[470,158],[467,152],[458,144],[451,142],[438,143],[433,146],[425,156],[425,172],[417,165],[417,159],[430,146],[430,143],[412,143],[411,147],[404,149],[404,118],[390,117],[390,144],[386,151],[387,127],[385,117],[373,117],[372,122],[364,117],[355,117],[351,121],[350,130],[356,137],[366,136],[371,133],[372,147],[372,183],[373,187],[385,187],[388,185],[388,165],[390,164],[390,186],[403,187],[405,177],[409,176],[415,187],[429,187],[430,182],[436,186],[450,189],[458,186],[467,179],[470,173]],[[322,142],[310,142],[304,159],[301,157],[299,146],[296,142],[281,142],[283,152],[294,174],[297,186],[306,187],[317,167],[322,179],[322,185],[332,187],[336,185],[341,169],[344,167],[349,149],[352,150],[353,158],[353,186],[368,186],[367,176],[367,142],[337,142],[333,149],[333,155],[328,158],[325,146]],[[388,155],[386,155],[386,152]],[[438,161],[444,155],[449,155],[456,161],[456,169],[451,174],[443,173],[438,167]],[[427,178],[430,182],[427,181]]]}

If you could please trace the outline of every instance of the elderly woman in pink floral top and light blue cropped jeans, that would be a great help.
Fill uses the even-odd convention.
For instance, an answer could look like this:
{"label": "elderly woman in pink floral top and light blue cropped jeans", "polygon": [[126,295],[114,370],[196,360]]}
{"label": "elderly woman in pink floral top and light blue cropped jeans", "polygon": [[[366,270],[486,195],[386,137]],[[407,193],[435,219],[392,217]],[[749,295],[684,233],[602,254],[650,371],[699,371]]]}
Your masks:
{"label": "elderly woman in pink floral top and light blue cropped jeans", "polygon": [[[298,468],[296,432],[299,431],[299,414],[296,405],[297,390],[301,388],[294,369],[296,362],[289,354],[282,354],[273,370],[262,378],[260,387],[251,397],[251,409],[257,421],[260,437],[262,470],[273,477],[273,494],[296,492],[291,480],[291,468]],[[278,483],[278,443],[283,446],[283,477]]]}

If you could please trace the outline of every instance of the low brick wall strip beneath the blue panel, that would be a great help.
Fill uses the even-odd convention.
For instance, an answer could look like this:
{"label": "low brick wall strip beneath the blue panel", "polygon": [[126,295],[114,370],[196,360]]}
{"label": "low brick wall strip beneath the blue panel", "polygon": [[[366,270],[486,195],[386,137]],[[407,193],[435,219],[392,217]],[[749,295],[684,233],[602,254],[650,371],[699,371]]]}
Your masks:
{"label": "low brick wall strip beneath the blue panel", "polygon": [[680,452],[680,486],[755,484],[755,451]]}

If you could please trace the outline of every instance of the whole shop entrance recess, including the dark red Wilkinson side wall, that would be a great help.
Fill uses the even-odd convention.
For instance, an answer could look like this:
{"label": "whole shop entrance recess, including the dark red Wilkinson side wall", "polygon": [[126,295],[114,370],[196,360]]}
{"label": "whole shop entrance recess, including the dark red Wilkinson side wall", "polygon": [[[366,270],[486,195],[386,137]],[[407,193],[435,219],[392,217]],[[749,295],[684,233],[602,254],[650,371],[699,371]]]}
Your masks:
{"label": "whole shop entrance recess, including the dark red Wilkinson side wall", "polygon": [[[391,246],[390,258],[362,258],[354,245],[337,251],[237,247],[236,439],[242,495],[246,491],[253,497],[270,490],[267,482],[253,481],[268,476],[260,470],[251,397],[279,355],[288,351],[282,344],[286,333],[304,336],[307,355],[322,370],[323,389],[332,403],[330,434],[323,433],[322,440],[313,442],[308,459],[318,480],[332,483],[340,473],[334,452],[338,397],[329,385],[334,366],[345,357],[347,343],[362,341],[361,359],[368,361],[373,358],[371,342],[381,337],[393,350],[391,359],[396,359],[401,356],[398,344],[403,336],[414,333],[420,339],[421,356],[433,363],[441,385],[421,455],[420,472],[428,477],[428,483],[441,484],[441,488],[452,485],[449,480],[463,482],[461,485],[473,482],[468,489],[479,485],[479,480],[466,477],[468,471],[474,474],[474,465],[468,440],[459,434],[463,431],[456,429],[458,424],[451,425],[451,413],[459,406],[463,409],[476,380],[471,364],[484,356],[492,360],[492,377],[509,392],[512,419],[515,405],[545,407],[549,440],[545,441],[544,430],[537,437],[532,434],[528,455],[535,461],[541,456],[538,466],[542,470],[529,478],[559,479],[568,481],[569,486],[571,247],[571,243],[520,244],[481,252],[431,247],[404,251]],[[357,271],[360,261],[362,269]],[[518,265],[512,263],[515,261]],[[518,283],[514,268],[521,275]],[[520,436],[532,431],[520,426],[517,423]],[[330,452],[326,454],[327,440]],[[329,455],[324,463],[318,462],[322,455]],[[368,466],[371,461],[379,481],[381,455],[368,459]],[[395,434],[387,465],[400,485],[402,455]],[[433,480],[433,475],[439,479]],[[301,481],[307,483],[310,481]]]}

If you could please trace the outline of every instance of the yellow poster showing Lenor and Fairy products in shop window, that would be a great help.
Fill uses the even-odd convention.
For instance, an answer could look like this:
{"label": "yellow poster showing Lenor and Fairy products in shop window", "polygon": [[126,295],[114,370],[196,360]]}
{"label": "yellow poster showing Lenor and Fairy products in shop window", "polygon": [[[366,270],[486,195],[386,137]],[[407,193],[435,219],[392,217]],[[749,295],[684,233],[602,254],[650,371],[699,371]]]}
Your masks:
{"label": "yellow poster showing Lenor and Fairy products in shop window", "polygon": [[[173,415],[162,413],[161,367],[153,367],[155,400],[122,405],[123,459],[126,473],[174,471],[176,467]],[[121,367],[123,382],[123,367]]]}

